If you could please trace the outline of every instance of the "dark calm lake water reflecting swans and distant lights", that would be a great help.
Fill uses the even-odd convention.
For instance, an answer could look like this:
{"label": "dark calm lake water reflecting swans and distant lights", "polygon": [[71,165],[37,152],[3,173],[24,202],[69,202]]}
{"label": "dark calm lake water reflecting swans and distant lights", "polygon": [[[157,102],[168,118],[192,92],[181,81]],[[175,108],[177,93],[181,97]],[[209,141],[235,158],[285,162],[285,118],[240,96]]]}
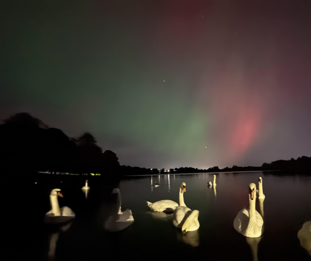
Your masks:
{"label": "dark calm lake water reflecting swans and distant lights", "polygon": [[[264,201],[256,209],[263,216],[264,232],[247,240],[233,228],[237,213],[248,207],[248,185],[263,180]],[[12,185],[6,195],[9,230],[7,260],[107,261],[107,260],[310,260],[297,232],[311,220],[311,177],[277,172],[219,173],[215,190],[207,186],[213,174],[161,174],[125,177],[119,184],[122,210],[131,209],[134,223],[121,232],[104,230],[111,209],[111,188],[92,177],[34,176],[28,184]],[[89,179],[87,195],[81,188]],[[160,184],[151,186],[155,181]],[[172,215],[152,212],[146,201],[178,202],[180,184],[186,182],[184,200],[200,211],[200,228],[182,233]],[[50,210],[49,193],[61,188],[59,205],[76,217],[66,226],[43,223]]]}

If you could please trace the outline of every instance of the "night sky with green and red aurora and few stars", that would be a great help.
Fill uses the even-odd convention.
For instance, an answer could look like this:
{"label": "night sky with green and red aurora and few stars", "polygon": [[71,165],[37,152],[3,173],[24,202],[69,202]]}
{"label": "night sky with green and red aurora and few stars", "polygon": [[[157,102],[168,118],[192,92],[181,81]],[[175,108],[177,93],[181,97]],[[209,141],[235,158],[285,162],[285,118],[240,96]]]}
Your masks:
{"label": "night sky with green and red aurora and few stars", "polygon": [[0,119],[91,133],[121,165],[311,156],[310,0],[6,0]]}

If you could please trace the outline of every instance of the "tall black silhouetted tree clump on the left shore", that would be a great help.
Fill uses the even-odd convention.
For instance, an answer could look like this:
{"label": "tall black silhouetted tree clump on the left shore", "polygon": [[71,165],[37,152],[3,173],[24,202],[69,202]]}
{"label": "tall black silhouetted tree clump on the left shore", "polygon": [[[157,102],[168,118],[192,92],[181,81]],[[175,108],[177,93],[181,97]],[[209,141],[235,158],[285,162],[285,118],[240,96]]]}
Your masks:
{"label": "tall black silhouetted tree clump on the left shore", "polygon": [[69,138],[28,113],[10,116],[0,125],[0,171],[6,174],[56,172],[101,173],[120,179],[117,155],[102,151],[90,133]]}

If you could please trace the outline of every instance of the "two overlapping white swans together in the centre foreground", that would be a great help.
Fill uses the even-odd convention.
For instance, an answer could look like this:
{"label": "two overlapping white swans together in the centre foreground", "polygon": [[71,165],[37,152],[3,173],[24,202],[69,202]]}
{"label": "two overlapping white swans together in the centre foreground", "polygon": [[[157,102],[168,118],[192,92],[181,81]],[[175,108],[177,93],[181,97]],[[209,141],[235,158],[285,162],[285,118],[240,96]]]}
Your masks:
{"label": "two overlapping white swans together in the centre foreground", "polygon": [[179,188],[179,205],[172,200],[160,200],[155,203],[147,201],[147,204],[154,211],[172,212],[173,210],[173,225],[183,232],[194,231],[200,226],[199,211],[192,211],[186,206],[184,192],[186,192],[186,183],[182,182]]}

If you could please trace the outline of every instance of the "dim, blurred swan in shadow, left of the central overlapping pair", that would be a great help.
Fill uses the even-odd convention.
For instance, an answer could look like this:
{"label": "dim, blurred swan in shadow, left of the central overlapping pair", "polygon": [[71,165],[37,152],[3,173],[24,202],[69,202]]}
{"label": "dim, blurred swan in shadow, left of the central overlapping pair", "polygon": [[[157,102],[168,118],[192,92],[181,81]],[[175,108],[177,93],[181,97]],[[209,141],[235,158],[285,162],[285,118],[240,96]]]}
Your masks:
{"label": "dim, blurred swan in shadow, left of the central overlapping pair", "polygon": [[111,194],[117,196],[117,203],[114,204],[111,215],[109,215],[107,220],[104,222],[104,228],[109,232],[118,232],[132,225],[134,217],[131,209],[121,211],[120,189],[113,189]]}

